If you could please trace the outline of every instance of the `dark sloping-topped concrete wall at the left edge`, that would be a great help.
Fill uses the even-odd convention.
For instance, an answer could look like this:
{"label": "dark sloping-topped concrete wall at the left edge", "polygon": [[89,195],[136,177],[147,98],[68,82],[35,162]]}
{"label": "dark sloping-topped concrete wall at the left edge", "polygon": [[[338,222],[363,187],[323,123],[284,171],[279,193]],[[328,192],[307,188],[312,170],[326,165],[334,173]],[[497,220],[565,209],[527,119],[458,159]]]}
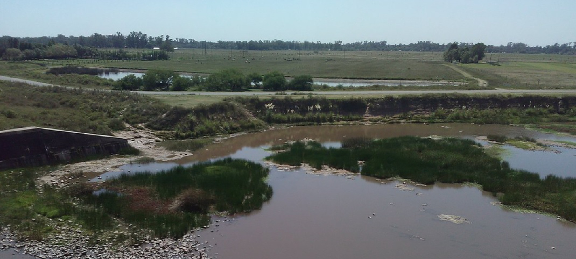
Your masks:
{"label": "dark sloping-topped concrete wall at the left edge", "polygon": [[67,163],[92,155],[116,154],[126,139],[50,128],[0,131],[0,170]]}

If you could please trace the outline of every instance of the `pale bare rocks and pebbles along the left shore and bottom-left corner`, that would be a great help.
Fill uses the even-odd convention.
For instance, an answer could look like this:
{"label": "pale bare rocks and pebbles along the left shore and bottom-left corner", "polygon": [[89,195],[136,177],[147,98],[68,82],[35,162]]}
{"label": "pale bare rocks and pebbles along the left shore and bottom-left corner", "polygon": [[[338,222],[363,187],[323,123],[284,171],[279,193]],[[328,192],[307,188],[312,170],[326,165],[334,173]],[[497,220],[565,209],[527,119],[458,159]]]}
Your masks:
{"label": "pale bare rocks and pebbles along the left shore and bottom-left corner", "polygon": [[[173,152],[157,147],[160,141],[153,132],[147,129],[128,127],[126,131],[116,132],[117,136],[128,139],[131,146],[142,151],[140,157],[151,157],[156,161],[168,161],[192,155],[187,152]],[[138,158],[138,157],[136,157]],[[85,161],[63,166],[54,172],[48,172],[36,178],[39,189],[42,186],[51,186],[59,189],[65,188],[74,182],[86,181],[96,177],[97,174],[115,169],[120,165],[129,163],[135,157],[110,157],[96,161]],[[11,230],[10,226],[0,230],[0,259],[2,258],[187,258],[206,259],[212,244],[200,241],[200,235],[195,231],[182,238],[151,238],[146,235],[142,242],[134,245],[126,242],[112,244],[115,235],[127,235],[131,226],[118,226],[119,230],[108,233],[107,237],[94,240],[82,230],[81,226],[70,226],[66,222],[52,221],[48,225],[52,233],[42,241],[23,239]],[[215,226],[218,226],[217,224]],[[210,226],[206,226],[210,227]],[[204,228],[206,228],[204,227]],[[126,228],[126,231],[124,231]],[[199,228],[198,230],[203,229]],[[197,231],[197,230],[196,230]],[[217,230],[215,230],[217,231]],[[142,238],[142,237],[141,237]],[[94,244],[96,243],[96,244]]]}

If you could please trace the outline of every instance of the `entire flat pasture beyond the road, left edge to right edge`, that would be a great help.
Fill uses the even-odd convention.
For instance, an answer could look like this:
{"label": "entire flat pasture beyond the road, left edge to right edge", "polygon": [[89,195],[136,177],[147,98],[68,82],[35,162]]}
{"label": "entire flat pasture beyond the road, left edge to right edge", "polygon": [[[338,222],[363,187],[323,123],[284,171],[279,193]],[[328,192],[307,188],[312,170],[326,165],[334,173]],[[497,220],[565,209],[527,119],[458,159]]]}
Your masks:
{"label": "entire flat pasture beyond the road, left edge to right edge", "polygon": [[[142,49],[138,50],[142,51]],[[570,89],[576,88],[576,56],[550,54],[487,54],[483,62],[458,64],[473,77],[488,81],[490,88]],[[177,49],[170,60],[43,60],[35,63],[0,62],[0,74],[59,85],[111,88],[111,81],[88,75],[46,75],[48,67],[78,65],[126,69],[157,69],[181,73],[214,73],[236,68],[244,74],[280,71],[287,76],[309,74],[316,78],[406,79],[476,81],[454,71],[442,60],[441,52],[392,51],[237,51],[223,49]],[[401,89],[426,87],[401,86]],[[430,88],[430,87],[428,87]],[[454,86],[442,88],[453,89]],[[386,87],[389,89],[389,87]],[[396,89],[394,89],[396,90]]]}

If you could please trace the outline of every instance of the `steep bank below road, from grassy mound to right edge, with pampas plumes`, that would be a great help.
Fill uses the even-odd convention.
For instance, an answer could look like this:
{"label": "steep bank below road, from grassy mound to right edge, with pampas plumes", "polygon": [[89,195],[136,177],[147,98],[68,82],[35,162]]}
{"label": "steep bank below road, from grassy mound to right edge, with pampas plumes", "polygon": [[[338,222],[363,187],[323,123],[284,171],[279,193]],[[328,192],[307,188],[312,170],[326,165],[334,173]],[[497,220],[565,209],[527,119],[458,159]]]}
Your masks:
{"label": "steep bank below road, from grassy mound to right edge, with pampas plumes", "polygon": [[147,124],[175,138],[229,134],[267,124],[320,123],[544,123],[576,116],[576,97],[426,94],[384,98],[235,97],[193,109],[174,107]]}

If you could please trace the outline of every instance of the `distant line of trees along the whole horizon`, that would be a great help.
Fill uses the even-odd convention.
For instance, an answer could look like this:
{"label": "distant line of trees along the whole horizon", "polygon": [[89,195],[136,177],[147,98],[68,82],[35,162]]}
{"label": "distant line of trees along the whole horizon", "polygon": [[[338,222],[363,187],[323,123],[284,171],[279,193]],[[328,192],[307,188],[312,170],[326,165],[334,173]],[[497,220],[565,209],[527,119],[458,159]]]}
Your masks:
{"label": "distant line of trees along the whole horizon", "polygon": [[[10,39],[12,38],[12,39]],[[18,40],[26,44],[44,44],[50,42],[67,45],[81,45],[92,48],[160,48],[173,51],[178,48],[199,49],[236,49],[236,50],[301,50],[301,51],[435,51],[442,52],[452,43],[439,44],[432,41],[418,41],[410,44],[388,44],[387,41],[356,41],[343,43],[340,40],[323,43],[321,41],[284,41],[284,40],[250,40],[250,41],[198,41],[195,39],[175,38],[169,35],[149,36],[142,32],[130,32],[123,35],[116,32],[112,35],[94,33],[90,36],[64,36],[56,37],[22,37],[13,38],[3,36],[0,38],[0,55],[3,54],[2,42]],[[458,43],[460,47],[472,43]],[[16,47],[13,47],[16,48]],[[21,51],[23,49],[20,48]],[[576,54],[576,41],[569,43],[555,43],[546,46],[529,46],[525,43],[508,43],[507,45],[487,45],[486,52],[509,52],[526,54]]]}

